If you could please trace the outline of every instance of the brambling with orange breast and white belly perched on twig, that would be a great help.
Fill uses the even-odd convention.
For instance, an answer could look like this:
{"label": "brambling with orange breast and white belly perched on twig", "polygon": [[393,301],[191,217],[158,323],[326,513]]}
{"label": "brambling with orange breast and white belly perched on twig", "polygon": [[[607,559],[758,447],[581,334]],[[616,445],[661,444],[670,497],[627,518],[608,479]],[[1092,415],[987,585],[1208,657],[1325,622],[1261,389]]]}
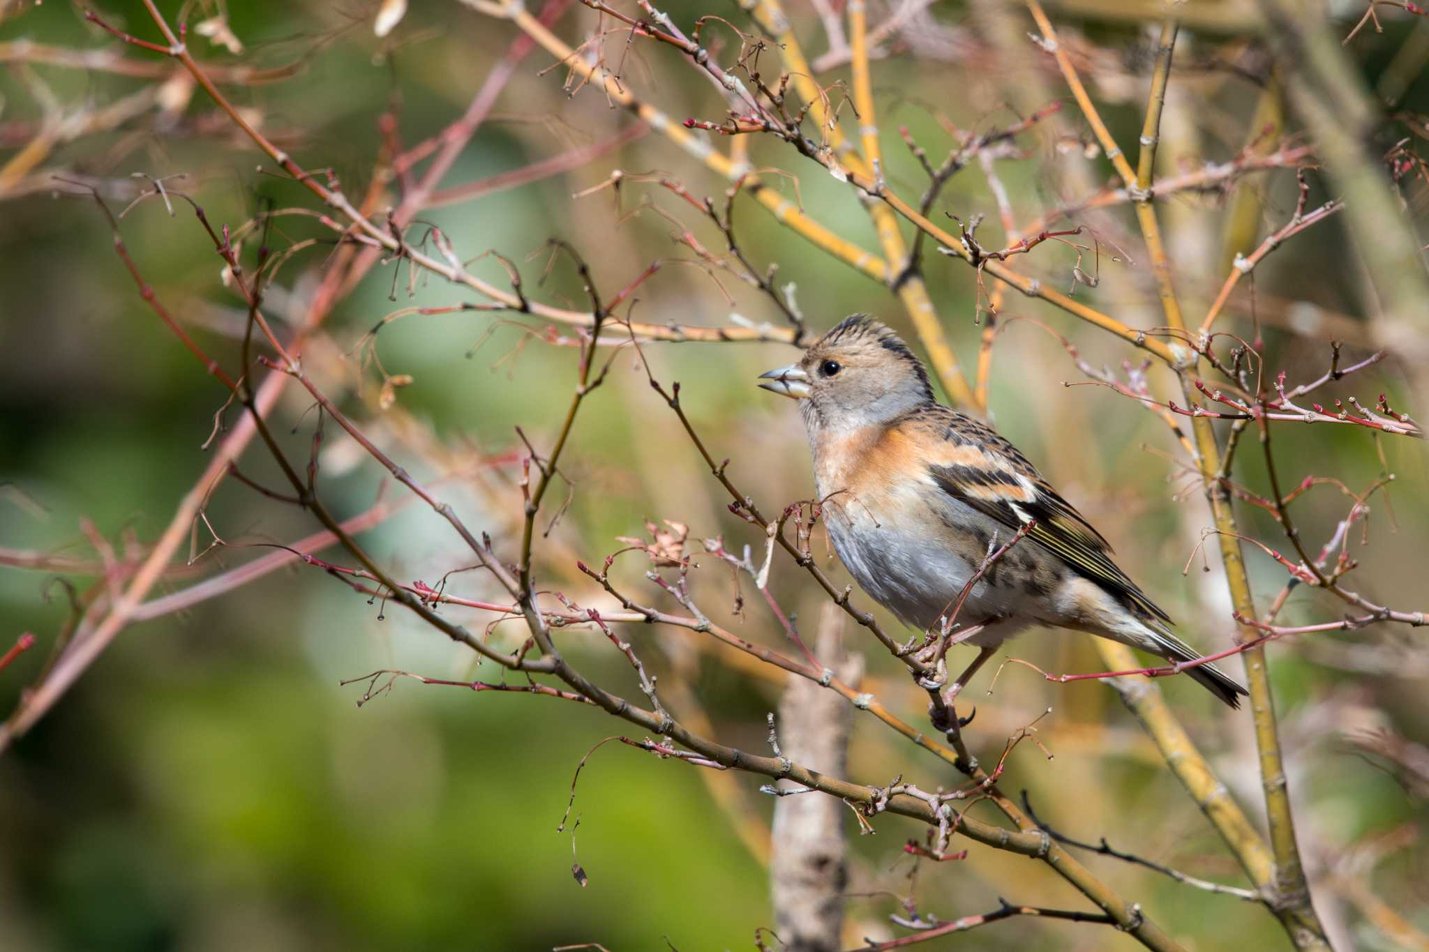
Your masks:
{"label": "brambling with orange breast and white belly perched on twig", "polygon": [[[905,624],[979,648],[949,699],[1027,625],[1200,658],[1016,447],[935,400],[923,364],[883,324],[856,314],[760,381],[799,401],[825,525],[855,581]],[[950,618],[967,579],[1029,524]],[[1213,665],[1186,674],[1233,708],[1246,694]]]}

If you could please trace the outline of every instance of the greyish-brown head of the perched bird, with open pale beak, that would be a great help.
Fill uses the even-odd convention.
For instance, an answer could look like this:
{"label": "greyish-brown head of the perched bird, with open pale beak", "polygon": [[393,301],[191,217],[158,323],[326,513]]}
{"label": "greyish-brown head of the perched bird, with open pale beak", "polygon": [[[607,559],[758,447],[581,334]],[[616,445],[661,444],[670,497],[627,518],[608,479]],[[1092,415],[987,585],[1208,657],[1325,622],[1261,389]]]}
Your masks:
{"label": "greyish-brown head of the perched bird, with open pale beak", "polygon": [[886,424],[933,400],[923,364],[867,314],[845,318],[797,364],[763,374],[759,385],[799,401],[810,435]]}

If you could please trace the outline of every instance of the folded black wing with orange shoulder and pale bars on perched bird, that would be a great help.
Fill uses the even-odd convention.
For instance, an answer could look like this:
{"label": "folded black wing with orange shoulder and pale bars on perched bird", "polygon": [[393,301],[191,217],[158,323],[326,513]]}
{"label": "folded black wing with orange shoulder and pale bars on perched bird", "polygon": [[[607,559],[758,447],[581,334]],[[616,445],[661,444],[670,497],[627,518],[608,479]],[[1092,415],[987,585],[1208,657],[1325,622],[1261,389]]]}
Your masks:
{"label": "folded black wing with orange shoulder and pale bars on perched bird", "polygon": [[1102,534],[995,430],[946,407],[906,425],[923,431],[917,444],[926,451],[927,472],[949,497],[1010,530],[1035,521],[1029,540],[1110,594],[1170,621],[1112,561],[1112,547]]}

